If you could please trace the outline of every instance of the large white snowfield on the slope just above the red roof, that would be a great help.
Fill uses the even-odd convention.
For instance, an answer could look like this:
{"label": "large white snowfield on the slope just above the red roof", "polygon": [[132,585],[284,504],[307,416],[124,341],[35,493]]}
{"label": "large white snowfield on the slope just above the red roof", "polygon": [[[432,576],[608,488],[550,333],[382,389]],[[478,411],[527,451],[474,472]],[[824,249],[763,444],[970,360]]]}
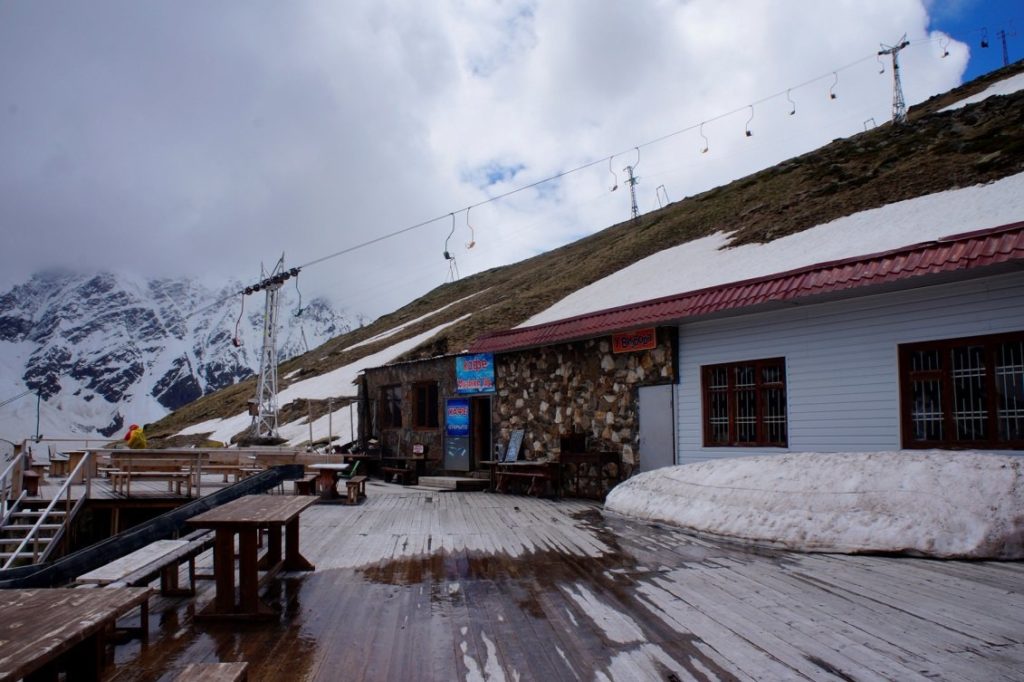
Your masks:
{"label": "large white snowfield on the slope just above the red roof", "polygon": [[729,236],[666,249],[584,287],[519,327],[697,291],[815,263],[888,251],[1024,219],[1024,173],[861,211],[767,244],[725,248]]}

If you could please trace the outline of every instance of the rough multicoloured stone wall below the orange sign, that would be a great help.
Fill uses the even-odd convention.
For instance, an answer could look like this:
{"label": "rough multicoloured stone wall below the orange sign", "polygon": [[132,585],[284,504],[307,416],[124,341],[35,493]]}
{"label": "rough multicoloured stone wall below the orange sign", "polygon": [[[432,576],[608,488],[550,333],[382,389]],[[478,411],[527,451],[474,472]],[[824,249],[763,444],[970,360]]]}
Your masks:
{"label": "rough multicoloured stone wall below the orange sign", "polygon": [[496,357],[495,437],[523,429],[520,458],[558,459],[559,438],[587,436],[590,451],[622,454],[629,472],[640,438],[637,388],[675,381],[675,330],[657,330],[651,350],[612,353],[599,337]]}

